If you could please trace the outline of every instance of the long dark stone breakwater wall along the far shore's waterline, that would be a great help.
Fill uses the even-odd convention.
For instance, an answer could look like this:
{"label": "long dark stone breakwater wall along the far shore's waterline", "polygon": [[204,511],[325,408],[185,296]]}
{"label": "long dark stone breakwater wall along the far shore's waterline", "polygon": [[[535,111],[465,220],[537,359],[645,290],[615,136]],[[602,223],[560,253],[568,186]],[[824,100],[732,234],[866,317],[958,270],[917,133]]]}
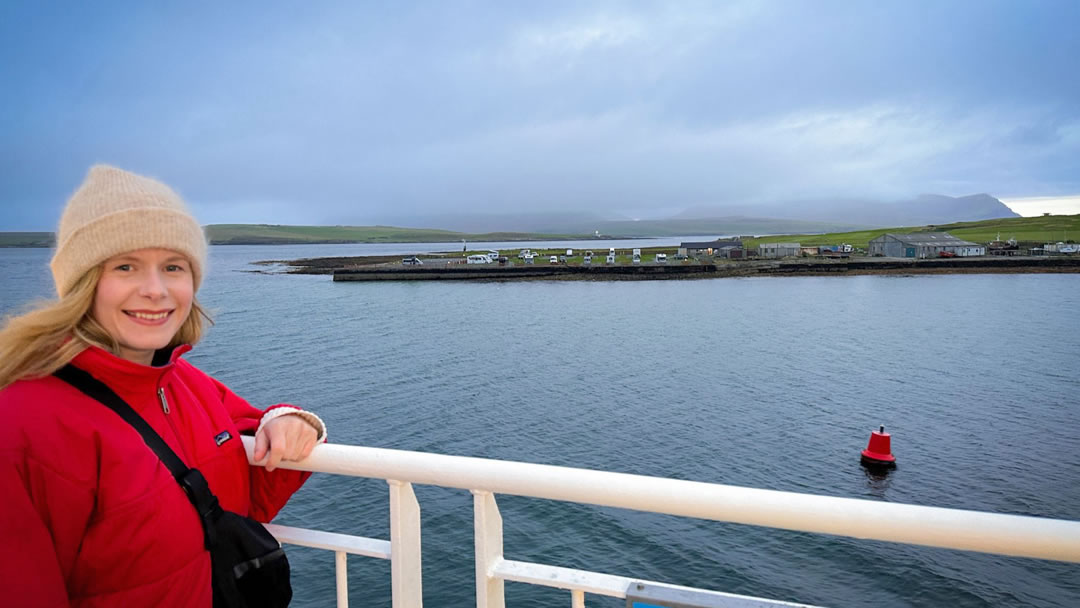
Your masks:
{"label": "long dark stone breakwater wall along the far shore's waterline", "polygon": [[[300,271],[302,270],[294,270]],[[718,264],[672,265],[431,265],[406,267],[313,268],[333,272],[334,281],[513,281],[663,279],[717,279],[733,276],[789,276],[841,274],[946,274],[1080,272],[1080,257],[980,257],[950,259],[853,258],[846,260],[750,260]]]}

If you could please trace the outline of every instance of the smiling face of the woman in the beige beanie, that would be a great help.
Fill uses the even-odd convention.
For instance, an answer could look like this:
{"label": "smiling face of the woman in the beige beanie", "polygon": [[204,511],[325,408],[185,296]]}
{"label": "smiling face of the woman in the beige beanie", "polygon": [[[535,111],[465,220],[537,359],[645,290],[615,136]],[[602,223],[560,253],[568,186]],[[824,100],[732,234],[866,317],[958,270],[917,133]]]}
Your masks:
{"label": "smiling face of the woman in the beige beanie", "polygon": [[191,312],[191,264],[171,249],[137,249],[105,260],[92,314],[123,359],[149,365]]}

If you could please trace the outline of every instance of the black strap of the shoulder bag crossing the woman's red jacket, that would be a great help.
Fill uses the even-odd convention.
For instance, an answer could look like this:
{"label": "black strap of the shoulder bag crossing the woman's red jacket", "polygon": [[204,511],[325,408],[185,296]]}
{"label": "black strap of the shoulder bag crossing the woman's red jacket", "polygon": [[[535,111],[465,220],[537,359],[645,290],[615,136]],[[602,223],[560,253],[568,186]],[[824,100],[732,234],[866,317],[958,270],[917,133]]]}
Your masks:
{"label": "black strap of the shoulder bag crossing the woman's red jacket", "polygon": [[54,376],[79,389],[86,396],[100,402],[103,405],[116,411],[125,422],[135,428],[146,445],[158,455],[161,462],[173,474],[173,478],[184,489],[191,505],[199,513],[199,519],[203,525],[203,535],[206,549],[213,546],[215,538],[213,536],[214,526],[212,522],[217,521],[221,514],[221,506],[217,497],[211,491],[206,478],[198,469],[191,469],[180,460],[179,456],[168,447],[165,440],[161,438],[150,424],[136,413],[132,406],[127,405],[112,389],[105,382],[90,375],[89,371],[80,369],[70,363],[53,373]]}

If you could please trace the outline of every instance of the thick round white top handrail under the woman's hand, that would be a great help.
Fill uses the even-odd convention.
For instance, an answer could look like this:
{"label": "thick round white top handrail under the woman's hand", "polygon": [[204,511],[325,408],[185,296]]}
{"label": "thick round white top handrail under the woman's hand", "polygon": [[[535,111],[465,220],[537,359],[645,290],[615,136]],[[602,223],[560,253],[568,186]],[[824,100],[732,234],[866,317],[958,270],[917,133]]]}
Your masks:
{"label": "thick round white top handrail under the woman's hand", "polygon": [[[248,459],[254,441],[244,438]],[[1080,563],[1080,522],[324,444],[283,468],[737,524]]]}

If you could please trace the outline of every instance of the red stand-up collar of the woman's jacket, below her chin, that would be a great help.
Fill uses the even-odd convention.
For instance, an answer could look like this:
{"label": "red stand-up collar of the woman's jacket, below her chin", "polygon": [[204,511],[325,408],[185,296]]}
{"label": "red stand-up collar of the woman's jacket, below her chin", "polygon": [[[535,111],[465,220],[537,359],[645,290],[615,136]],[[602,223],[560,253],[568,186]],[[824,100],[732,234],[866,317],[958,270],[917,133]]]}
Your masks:
{"label": "red stand-up collar of the woman's jacket, below her chin", "polygon": [[[137,397],[145,398],[146,391],[153,392],[164,386],[176,370],[180,355],[191,350],[190,344],[173,349],[162,349],[154,353],[154,365],[143,365],[121,359],[105,349],[87,347],[71,362],[81,369],[108,384],[124,401],[131,403]],[[161,365],[157,365],[157,364]],[[136,397],[135,400],[129,398]],[[132,404],[134,407],[134,404]]]}

